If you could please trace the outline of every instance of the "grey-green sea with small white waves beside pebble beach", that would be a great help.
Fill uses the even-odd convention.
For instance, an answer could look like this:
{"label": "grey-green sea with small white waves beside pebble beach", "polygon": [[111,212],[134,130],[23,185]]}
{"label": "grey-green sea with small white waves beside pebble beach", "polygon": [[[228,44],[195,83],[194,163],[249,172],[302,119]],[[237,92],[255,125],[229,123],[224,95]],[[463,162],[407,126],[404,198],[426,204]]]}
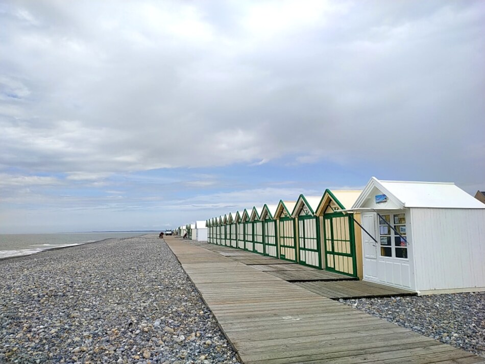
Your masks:
{"label": "grey-green sea with small white waves beside pebble beach", "polygon": [[109,238],[154,234],[153,231],[81,232],[57,234],[0,234],[0,259],[31,255],[55,248],[82,245]]}

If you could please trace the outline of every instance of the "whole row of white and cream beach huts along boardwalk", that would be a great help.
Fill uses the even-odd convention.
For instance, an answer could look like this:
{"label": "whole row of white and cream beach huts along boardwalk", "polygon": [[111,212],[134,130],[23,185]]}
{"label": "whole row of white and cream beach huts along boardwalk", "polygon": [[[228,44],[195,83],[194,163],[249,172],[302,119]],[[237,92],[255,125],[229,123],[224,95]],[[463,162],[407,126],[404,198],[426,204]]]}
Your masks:
{"label": "whole row of white and cream beach huts along boardwalk", "polygon": [[300,195],[178,234],[418,294],[485,290],[485,204],[453,183],[372,177],[363,190]]}

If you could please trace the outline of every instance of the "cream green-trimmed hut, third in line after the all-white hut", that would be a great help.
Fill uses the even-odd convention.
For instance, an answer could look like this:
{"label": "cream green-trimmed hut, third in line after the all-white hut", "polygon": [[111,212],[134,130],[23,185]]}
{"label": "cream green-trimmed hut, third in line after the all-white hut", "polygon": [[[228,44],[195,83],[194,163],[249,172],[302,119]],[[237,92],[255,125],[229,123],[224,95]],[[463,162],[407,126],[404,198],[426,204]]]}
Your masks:
{"label": "cream green-trimmed hut, third in line after the all-white hut", "polygon": [[278,247],[280,259],[298,261],[297,227],[292,217],[296,201],[280,200],[276,207],[275,219],[278,223]]}

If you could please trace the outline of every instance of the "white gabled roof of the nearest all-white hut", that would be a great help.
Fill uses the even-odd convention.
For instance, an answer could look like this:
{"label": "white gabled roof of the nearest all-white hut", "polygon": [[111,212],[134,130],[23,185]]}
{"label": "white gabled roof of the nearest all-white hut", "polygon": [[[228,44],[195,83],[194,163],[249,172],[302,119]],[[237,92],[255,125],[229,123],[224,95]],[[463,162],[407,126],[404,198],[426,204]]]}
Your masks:
{"label": "white gabled roof of the nearest all-white hut", "polygon": [[[376,196],[385,202],[376,203]],[[352,208],[485,208],[454,183],[379,181],[372,177]]]}

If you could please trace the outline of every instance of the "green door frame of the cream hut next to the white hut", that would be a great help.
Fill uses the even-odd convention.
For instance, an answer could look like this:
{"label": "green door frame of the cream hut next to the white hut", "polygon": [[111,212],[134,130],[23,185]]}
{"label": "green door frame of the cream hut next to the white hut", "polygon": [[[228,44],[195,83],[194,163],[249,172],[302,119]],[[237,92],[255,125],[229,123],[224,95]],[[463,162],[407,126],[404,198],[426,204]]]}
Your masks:
{"label": "green door frame of the cream hut next to the white hut", "polygon": [[[337,217],[347,217],[348,220],[348,226],[349,226],[349,245],[350,245],[350,254],[347,253],[340,253],[340,252],[335,252],[334,249],[334,242],[335,239],[333,238],[333,219]],[[338,274],[345,274],[347,276],[351,277],[357,277],[357,257],[355,253],[355,231],[354,231],[354,216],[352,214],[347,214],[345,215],[342,212],[334,212],[334,213],[328,213],[323,216],[324,219],[324,224],[323,224],[323,231],[324,231],[324,240],[323,240],[323,245],[325,247],[325,270],[330,271],[330,272],[335,272]],[[332,250],[333,251],[328,251],[327,250],[327,228],[325,224],[325,220],[330,220],[330,240],[331,240],[331,245],[332,245]],[[338,240],[338,241],[347,241],[347,240]],[[328,254],[332,255],[333,257],[333,266],[335,266],[335,255],[340,255],[344,257],[351,257],[352,258],[352,270],[354,271],[354,274],[346,273],[346,272],[341,272],[337,271],[334,268],[330,268],[328,266]]]}

